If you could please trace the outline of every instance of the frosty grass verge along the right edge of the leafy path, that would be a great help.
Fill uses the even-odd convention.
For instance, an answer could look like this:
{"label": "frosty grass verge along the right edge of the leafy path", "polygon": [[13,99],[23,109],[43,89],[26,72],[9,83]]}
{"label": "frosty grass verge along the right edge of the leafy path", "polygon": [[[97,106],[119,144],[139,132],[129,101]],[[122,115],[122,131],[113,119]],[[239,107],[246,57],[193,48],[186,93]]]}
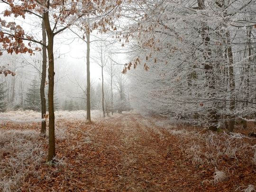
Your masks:
{"label": "frosty grass verge along the right edge of the leafy path", "polygon": [[[209,174],[208,170],[215,167],[210,177],[205,175],[206,179],[201,182],[202,185],[229,182],[230,178],[233,180],[241,174],[239,169],[241,166],[248,170],[248,167],[256,165],[256,140],[245,134],[211,132],[200,127],[182,125],[179,122],[154,117],[137,117],[137,122],[152,128],[159,135],[166,136],[165,133],[168,132],[178,138],[178,146],[183,151],[184,159],[190,161],[199,170],[204,169],[202,173]],[[169,154],[168,149],[167,154]],[[253,181],[251,182],[254,184]],[[239,190],[256,192],[252,184],[242,186]]]}

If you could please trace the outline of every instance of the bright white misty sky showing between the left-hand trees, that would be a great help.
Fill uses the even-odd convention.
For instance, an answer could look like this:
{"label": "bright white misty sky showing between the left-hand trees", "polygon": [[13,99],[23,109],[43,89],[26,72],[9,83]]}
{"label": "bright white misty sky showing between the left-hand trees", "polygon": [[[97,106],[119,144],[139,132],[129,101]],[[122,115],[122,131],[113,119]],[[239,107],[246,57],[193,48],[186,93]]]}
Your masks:
{"label": "bright white misty sky showing between the left-hand trees", "polygon": [[[4,5],[0,3],[0,17],[8,21],[8,17],[3,17]],[[30,17],[30,18],[29,18]],[[16,23],[21,25],[26,32],[33,31],[33,36],[36,39],[41,39],[41,21],[38,17],[29,16],[24,20],[22,17],[15,18]],[[13,19],[13,18],[11,18]],[[100,37],[101,34],[93,32],[92,35]],[[91,41],[95,40],[95,37],[91,36]],[[95,50],[91,45],[91,57],[95,58]],[[113,59],[120,63],[125,64],[126,56],[125,54],[113,55]],[[81,68],[84,64],[84,70]],[[66,30],[64,33],[58,34],[55,37],[55,68],[60,67],[60,65],[80,66],[77,70],[82,70],[84,75],[86,74],[86,43],[79,40],[75,34],[71,31]],[[100,81],[101,78],[101,68],[91,59],[91,79],[94,81]],[[74,74],[75,75],[75,74]]]}

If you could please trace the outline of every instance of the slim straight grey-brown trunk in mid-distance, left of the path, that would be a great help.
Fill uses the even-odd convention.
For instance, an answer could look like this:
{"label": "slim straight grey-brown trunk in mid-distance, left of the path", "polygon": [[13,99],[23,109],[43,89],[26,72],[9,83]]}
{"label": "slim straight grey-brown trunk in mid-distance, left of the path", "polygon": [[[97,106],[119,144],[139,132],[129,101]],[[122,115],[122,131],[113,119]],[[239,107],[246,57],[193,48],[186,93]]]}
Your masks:
{"label": "slim straight grey-brown trunk in mid-distance, left of the path", "polygon": [[91,102],[90,102],[90,33],[86,33],[86,73],[87,73],[87,89],[86,89],[86,119],[91,122]]}

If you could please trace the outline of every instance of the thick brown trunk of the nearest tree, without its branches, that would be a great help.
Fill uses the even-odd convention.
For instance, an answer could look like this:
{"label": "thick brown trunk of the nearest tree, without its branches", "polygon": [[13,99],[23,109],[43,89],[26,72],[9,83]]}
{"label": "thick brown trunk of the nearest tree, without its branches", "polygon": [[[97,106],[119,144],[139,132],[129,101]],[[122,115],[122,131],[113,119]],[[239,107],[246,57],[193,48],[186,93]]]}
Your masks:
{"label": "thick brown trunk of the nearest tree, without its branches", "polygon": [[[50,2],[47,2],[47,8],[50,7]],[[48,38],[48,80],[49,80],[49,90],[48,90],[48,109],[49,109],[49,148],[48,148],[48,159],[47,161],[53,161],[55,157],[55,115],[54,115],[54,33],[51,29],[49,21],[49,13],[45,10],[44,12],[44,22],[46,26],[46,33]]]}

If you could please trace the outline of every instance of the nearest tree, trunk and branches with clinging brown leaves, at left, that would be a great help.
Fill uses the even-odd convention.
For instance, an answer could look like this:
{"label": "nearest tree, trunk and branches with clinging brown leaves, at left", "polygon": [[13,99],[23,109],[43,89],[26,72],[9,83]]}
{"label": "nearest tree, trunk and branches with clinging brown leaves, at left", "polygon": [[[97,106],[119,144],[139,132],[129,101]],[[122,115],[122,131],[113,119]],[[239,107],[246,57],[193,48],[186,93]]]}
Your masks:
{"label": "nearest tree, trunk and branches with clinging brown leaves, at left", "polygon": [[[49,102],[49,150],[47,161],[52,161],[55,157],[55,115],[54,115],[54,39],[59,33],[62,33],[67,28],[74,25],[75,22],[80,21],[82,27],[87,26],[87,19],[90,16],[99,17],[98,23],[94,24],[94,28],[101,28],[102,32],[108,30],[108,25],[113,28],[114,14],[120,11],[122,1],[73,1],[73,0],[0,0],[6,4],[7,8],[4,11],[4,17],[13,15],[14,17],[25,18],[26,14],[32,14],[35,17],[43,19],[46,34],[47,44],[38,42],[32,36],[27,35],[24,29],[15,22],[6,22],[0,20],[0,42],[3,44],[4,50],[8,53],[33,53],[31,48],[27,48],[23,40],[39,43],[46,46],[48,55],[48,102]],[[104,16],[104,17],[103,17]],[[83,18],[83,19],[82,19]],[[90,32],[90,31],[89,31]],[[35,50],[39,50],[36,48]]]}

